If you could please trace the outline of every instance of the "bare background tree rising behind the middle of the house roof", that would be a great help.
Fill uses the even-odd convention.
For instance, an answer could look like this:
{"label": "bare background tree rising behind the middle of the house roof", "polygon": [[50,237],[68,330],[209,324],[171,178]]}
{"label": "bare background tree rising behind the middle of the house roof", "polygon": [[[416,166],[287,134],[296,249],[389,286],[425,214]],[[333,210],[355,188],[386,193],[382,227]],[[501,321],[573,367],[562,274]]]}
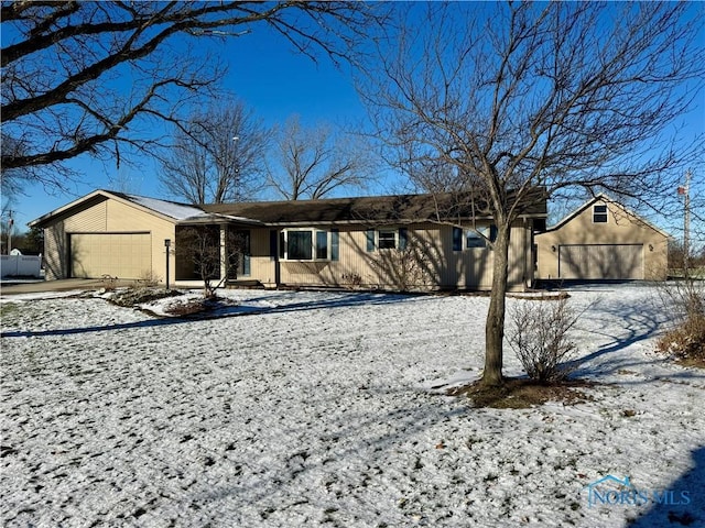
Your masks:
{"label": "bare background tree rising behind the middle of the house roof", "polygon": [[362,188],[373,167],[361,139],[323,123],[304,128],[299,116],[279,131],[273,160],[269,184],[286,200],[316,200],[341,188]]}

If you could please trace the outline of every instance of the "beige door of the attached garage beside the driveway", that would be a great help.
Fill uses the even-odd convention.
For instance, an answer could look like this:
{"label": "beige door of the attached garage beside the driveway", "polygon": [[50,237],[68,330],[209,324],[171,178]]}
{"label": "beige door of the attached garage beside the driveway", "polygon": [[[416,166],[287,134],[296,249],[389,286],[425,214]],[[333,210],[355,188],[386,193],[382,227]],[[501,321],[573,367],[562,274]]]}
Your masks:
{"label": "beige door of the attached garage beside the driveway", "polygon": [[76,233],[70,235],[72,276],[140,278],[152,270],[150,233]]}

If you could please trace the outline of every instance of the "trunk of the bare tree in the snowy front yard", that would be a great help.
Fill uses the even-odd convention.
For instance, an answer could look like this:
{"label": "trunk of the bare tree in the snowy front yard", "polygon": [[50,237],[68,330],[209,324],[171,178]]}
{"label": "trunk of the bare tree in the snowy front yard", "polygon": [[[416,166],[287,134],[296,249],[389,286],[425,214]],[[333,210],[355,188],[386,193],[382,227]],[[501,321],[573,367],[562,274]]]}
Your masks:
{"label": "trunk of the bare tree in the snowy front yard", "polygon": [[[505,224],[507,223],[507,224]],[[497,240],[494,244],[492,292],[489,298],[487,323],[485,326],[485,372],[482,384],[501,385],[503,341],[505,341],[505,296],[509,277],[509,234],[511,226],[501,222],[497,227]]]}

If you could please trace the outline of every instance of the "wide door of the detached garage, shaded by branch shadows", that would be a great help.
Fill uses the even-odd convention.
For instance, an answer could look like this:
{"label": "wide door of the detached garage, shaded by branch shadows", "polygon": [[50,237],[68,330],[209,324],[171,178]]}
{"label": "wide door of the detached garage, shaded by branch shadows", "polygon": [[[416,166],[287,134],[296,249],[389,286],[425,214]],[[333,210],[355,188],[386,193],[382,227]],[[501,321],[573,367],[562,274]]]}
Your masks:
{"label": "wide door of the detached garage, shaded by branch shadows", "polygon": [[642,279],[643,245],[561,245],[558,276],[566,279]]}

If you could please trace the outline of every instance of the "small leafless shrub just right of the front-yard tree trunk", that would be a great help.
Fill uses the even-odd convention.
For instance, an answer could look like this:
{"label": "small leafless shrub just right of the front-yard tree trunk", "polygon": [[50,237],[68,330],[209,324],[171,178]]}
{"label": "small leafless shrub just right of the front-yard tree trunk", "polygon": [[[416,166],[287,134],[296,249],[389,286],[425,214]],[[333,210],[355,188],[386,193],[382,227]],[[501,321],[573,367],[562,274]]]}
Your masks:
{"label": "small leafless shrub just right of the front-yard tree trunk", "polygon": [[567,298],[525,300],[510,311],[513,327],[508,332],[509,345],[530,378],[560,382],[575,370],[577,346],[570,340],[570,331],[577,318]]}

